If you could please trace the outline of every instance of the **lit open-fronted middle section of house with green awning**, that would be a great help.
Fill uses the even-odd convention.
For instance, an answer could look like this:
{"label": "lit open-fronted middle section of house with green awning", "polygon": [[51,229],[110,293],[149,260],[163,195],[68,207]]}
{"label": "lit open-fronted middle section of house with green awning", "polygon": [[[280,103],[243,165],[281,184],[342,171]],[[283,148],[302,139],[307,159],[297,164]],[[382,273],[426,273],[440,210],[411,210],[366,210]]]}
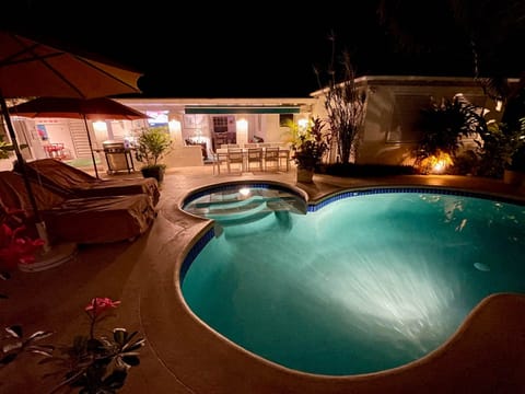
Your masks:
{"label": "lit open-fronted middle section of house with green awning", "polygon": [[[206,159],[221,144],[285,141],[285,120],[308,118],[314,99],[119,99],[118,102],[150,115],[152,118],[147,123],[166,126],[174,140],[166,164],[184,166],[199,165],[196,158],[199,149]],[[199,149],[189,153],[188,148],[194,144]]]}

